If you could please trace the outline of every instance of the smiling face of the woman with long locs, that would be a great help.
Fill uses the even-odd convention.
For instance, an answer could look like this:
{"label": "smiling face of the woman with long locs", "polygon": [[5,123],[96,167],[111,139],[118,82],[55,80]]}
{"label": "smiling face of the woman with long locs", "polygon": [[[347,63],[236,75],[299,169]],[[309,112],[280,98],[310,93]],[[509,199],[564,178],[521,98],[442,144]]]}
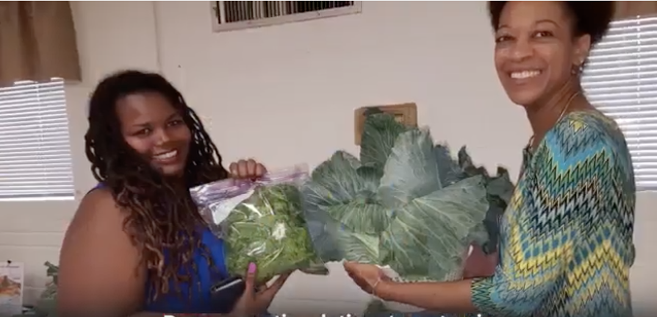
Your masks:
{"label": "smiling face of the woman with long locs", "polygon": [[116,103],[125,142],[165,176],[185,171],[192,134],[162,94],[129,94]]}

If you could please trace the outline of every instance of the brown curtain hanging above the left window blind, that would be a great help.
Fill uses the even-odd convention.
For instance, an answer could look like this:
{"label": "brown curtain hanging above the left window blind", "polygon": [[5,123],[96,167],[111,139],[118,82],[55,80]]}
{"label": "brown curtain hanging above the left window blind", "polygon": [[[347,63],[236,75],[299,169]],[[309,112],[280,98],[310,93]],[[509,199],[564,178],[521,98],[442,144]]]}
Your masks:
{"label": "brown curtain hanging above the left window blind", "polygon": [[68,1],[0,1],[0,85],[80,81],[76,32]]}

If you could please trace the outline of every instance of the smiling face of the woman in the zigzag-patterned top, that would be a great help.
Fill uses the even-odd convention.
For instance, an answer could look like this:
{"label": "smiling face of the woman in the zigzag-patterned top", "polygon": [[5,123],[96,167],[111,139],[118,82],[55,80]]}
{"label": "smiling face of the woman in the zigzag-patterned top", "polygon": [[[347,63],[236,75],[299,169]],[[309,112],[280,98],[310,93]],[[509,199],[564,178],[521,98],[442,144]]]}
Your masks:
{"label": "smiling face of the woman in the zigzag-patterned top", "polygon": [[545,103],[583,63],[589,35],[575,37],[559,1],[508,1],[495,32],[495,68],[512,102]]}

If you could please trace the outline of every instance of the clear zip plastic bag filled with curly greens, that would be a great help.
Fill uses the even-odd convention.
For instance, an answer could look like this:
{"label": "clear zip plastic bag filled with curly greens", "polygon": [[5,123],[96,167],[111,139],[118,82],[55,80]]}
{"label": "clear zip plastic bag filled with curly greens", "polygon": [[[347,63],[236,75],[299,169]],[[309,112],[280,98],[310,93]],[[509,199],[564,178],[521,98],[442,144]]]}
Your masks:
{"label": "clear zip plastic bag filled with curly greens", "polygon": [[258,265],[258,282],[303,270],[327,274],[313,248],[301,208],[305,165],[252,180],[225,179],[191,189],[213,233],[223,238],[229,274],[241,276]]}

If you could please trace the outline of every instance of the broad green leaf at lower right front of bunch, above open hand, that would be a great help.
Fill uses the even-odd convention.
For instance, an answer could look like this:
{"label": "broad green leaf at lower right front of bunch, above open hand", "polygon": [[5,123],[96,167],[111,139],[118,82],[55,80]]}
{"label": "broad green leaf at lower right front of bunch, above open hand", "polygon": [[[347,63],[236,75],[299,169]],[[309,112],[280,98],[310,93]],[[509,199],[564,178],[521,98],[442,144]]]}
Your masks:
{"label": "broad green leaf at lower right front of bunch, above open hand", "polygon": [[382,234],[380,265],[411,280],[443,280],[459,269],[470,231],[482,222],[487,207],[481,176],[412,200]]}

